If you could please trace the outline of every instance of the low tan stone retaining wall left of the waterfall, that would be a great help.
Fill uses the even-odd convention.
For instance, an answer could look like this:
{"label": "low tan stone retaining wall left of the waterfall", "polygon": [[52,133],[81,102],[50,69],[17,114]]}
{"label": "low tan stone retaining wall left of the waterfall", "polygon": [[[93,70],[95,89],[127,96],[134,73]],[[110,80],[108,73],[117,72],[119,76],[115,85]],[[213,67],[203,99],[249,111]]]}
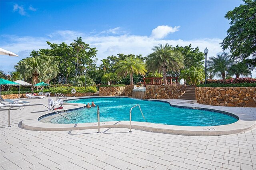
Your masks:
{"label": "low tan stone retaining wall left of the waterfall", "polygon": [[100,87],[100,96],[120,96],[125,87]]}

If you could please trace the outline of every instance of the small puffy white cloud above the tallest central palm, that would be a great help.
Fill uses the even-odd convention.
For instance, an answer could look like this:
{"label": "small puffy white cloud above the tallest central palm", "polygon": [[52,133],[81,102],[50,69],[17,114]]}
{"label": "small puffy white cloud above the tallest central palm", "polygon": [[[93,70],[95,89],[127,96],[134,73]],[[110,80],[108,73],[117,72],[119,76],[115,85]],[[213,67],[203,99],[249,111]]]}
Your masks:
{"label": "small puffy white cloud above the tallest central palm", "polygon": [[155,39],[165,38],[168,34],[177,32],[180,26],[157,26],[154,30],[152,30],[151,37]]}

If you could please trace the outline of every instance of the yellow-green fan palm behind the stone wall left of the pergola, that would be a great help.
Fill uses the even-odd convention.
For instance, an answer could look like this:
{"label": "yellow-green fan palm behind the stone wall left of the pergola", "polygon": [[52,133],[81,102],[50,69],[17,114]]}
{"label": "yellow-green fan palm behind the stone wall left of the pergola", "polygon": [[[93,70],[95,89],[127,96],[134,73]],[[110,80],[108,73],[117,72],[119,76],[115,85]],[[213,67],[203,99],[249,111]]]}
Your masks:
{"label": "yellow-green fan palm behind the stone wall left of the pergola", "polygon": [[126,77],[130,74],[130,85],[133,85],[133,74],[145,75],[147,71],[145,67],[142,60],[134,56],[128,56],[118,62],[116,73],[119,77]]}

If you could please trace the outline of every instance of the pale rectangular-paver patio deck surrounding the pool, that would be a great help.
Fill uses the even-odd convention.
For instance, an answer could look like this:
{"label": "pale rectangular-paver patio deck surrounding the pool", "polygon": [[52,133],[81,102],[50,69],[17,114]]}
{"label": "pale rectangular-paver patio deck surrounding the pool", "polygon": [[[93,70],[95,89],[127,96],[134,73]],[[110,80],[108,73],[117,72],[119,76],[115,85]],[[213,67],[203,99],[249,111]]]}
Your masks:
{"label": "pale rectangular-paver patio deck surrounding the pool", "polygon": [[[29,101],[47,103],[47,99]],[[254,108],[236,109],[256,115]],[[20,121],[38,111],[46,108],[12,110],[11,127],[7,127],[8,111],[0,111],[1,169],[256,170],[256,128],[223,136],[182,136],[141,130],[129,133],[127,128],[105,128],[100,134],[96,129],[43,132],[22,128]]]}

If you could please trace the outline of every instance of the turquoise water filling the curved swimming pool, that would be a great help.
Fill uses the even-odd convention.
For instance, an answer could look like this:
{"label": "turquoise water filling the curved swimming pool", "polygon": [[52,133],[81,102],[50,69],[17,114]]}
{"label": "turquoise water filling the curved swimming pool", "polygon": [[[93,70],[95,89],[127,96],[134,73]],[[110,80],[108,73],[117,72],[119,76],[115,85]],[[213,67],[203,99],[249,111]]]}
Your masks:
{"label": "turquoise water filling the curved swimming pool", "polygon": [[[140,104],[146,120],[143,119],[140,109],[132,110],[132,121],[159,123],[180,126],[216,126],[227,125],[238,121],[235,117],[223,113],[198,109],[184,109],[172,107],[169,103],[156,101],[143,101],[130,98],[91,98],[77,99],[68,103],[91,103],[94,101],[100,107],[100,122],[105,121],[129,121],[130,108]],[[66,117],[58,116],[51,123],[92,123],[96,122],[96,107],[90,109],[78,109],[66,112]],[[44,118],[43,118],[44,119]]]}

